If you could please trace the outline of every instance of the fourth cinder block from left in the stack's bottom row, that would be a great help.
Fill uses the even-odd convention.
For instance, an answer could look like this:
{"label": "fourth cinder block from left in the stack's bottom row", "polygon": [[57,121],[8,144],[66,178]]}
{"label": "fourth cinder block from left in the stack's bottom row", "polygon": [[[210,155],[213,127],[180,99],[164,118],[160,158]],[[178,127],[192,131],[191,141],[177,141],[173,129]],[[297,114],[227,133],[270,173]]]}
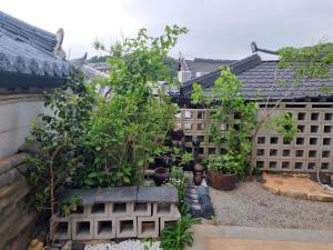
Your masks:
{"label": "fourth cinder block from left in the stack's bottom row", "polygon": [[138,237],[137,217],[115,218],[115,237],[117,238]]}

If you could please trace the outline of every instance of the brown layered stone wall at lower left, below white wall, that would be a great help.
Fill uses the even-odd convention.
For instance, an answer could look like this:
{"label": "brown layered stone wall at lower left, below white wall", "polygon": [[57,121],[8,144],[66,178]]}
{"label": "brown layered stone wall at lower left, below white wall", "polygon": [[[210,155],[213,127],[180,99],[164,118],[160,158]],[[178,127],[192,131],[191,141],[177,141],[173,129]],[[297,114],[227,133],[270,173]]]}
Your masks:
{"label": "brown layered stone wall at lower left, below white wall", "polygon": [[28,212],[24,173],[27,153],[0,160],[0,249],[23,250],[40,231],[37,216]]}

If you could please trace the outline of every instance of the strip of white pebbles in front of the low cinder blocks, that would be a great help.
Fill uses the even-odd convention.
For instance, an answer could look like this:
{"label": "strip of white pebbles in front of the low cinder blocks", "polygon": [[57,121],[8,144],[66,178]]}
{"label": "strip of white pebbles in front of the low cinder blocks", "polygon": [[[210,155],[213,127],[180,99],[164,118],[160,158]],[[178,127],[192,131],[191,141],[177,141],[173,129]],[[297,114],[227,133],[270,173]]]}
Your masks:
{"label": "strip of white pebbles in front of the low cinder blocks", "polygon": [[140,240],[124,240],[120,243],[101,243],[85,246],[84,250],[145,250],[144,246],[150,250],[161,250],[160,242],[155,241],[151,244],[149,242],[142,242]]}

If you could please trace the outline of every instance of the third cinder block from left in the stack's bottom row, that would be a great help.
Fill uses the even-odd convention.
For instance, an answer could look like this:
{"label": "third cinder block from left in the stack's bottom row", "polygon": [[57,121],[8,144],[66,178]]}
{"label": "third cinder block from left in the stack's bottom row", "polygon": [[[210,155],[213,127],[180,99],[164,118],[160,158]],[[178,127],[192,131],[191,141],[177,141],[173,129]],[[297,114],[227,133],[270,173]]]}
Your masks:
{"label": "third cinder block from left in the stack's bottom row", "polygon": [[93,239],[104,240],[115,238],[115,219],[94,218],[93,219]]}

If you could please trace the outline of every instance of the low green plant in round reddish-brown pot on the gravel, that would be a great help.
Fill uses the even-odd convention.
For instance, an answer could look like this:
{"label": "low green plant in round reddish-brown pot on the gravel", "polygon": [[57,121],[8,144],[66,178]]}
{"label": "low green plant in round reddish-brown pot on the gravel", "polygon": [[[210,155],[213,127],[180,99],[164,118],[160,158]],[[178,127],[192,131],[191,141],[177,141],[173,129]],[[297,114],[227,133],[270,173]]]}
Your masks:
{"label": "low green plant in round reddish-brown pot on the gravel", "polygon": [[234,189],[238,176],[244,174],[244,161],[232,153],[210,158],[206,167],[209,186],[223,191]]}

